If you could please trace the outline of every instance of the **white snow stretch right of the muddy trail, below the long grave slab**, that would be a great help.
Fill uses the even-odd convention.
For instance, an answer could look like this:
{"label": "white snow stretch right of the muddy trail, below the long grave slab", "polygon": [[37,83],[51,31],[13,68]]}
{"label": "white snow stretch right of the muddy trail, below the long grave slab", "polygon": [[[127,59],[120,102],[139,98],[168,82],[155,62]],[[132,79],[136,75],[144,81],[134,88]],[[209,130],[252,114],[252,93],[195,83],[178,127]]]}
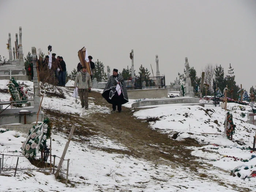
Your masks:
{"label": "white snow stretch right of the muddy trail, below the long grave slab", "polygon": [[[134,113],[134,116],[140,119],[156,118],[155,122],[150,123],[151,127],[169,134],[170,138],[174,133],[178,133],[176,140],[190,137],[199,143],[206,144],[204,147],[189,147],[193,150],[192,155],[204,158],[207,163],[224,170],[231,171],[238,167],[241,175],[250,176],[253,171],[256,171],[256,153],[251,153],[249,148],[253,144],[256,126],[245,122],[247,121],[246,114],[251,112],[252,108],[237,103],[228,103],[227,109],[231,110],[233,122],[237,126],[233,141],[223,138],[226,112],[218,106],[159,105],[139,110]],[[237,176],[237,172],[234,176]],[[230,179],[232,178],[233,176],[230,176]],[[250,180],[255,182],[256,178],[250,178]]]}

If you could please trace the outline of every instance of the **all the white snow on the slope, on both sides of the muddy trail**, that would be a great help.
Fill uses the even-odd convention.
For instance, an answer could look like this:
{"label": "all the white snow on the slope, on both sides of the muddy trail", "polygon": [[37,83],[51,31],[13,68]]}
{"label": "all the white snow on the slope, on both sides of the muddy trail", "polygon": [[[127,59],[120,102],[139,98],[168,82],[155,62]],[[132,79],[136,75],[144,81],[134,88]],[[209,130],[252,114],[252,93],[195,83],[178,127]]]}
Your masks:
{"label": "all the white snow on the slope, on both sides of the muddy trail", "polygon": [[[33,93],[33,82],[19,81],[26,84],[29,94]],[[0,80],[0,89],[7,89],[8,80]],[[72,82],[71,82],[72,83]],[[93,89],[102,93],[103,90]],[[47,87],[45,91],[65,95],[65,98],[50,97],[45,95],[42,103],[44,109],[59,110],[63,113],[76,113],[80,116],[89,113],[109,113],[106,106],[95,105],[93,98],[89,98],[89,109],[81,110],[79,103],[72,97],[73,90],[66,87],[51,89]],[[1,93],[0,98],[8,101],[10,95]],[[79,101],[79,99],[78,99]],[[131,107],[135,100],[130,99],[124,106]],[[147,106],[152,107],[152,106]],[[234,140],[230,141],[222,135],[203,135],[202,133],[221,133],[224,130],[224,119],[226,112],[220,107],[206,105],[161,105],[151,109],[139,110],[134,116],[140,119],[155,118],[155,122],[150,125],[162,133],[167,133],[170,137],[177,134],[178,140],[187,137],[194,138],[203,147],[189,147],[192,155],[203,158],[203,163],[211,164],[208,172],[200,170],[198,173],[176,166],[169,162],[168,165],[155,165],[144,159],[137,159],[124,154],[110,154],[100,150],[100,148],[113,148],[117,150],[128,150],[125,146],[108,138],[94,136],[93,143],[78,143],[71,141],[65,159],[70,159],[69,180],[71,184],[56,181],[53,175],[47,175],[36,170],[26,170],[17,172],[16,177],[0,176],[0,192],[12,191],[135,191],[135,192],[215,192],[215,191],[243,191],[238,189],[248,188],[255,191],[256,178],[244,178],[255,169],[256,158],[246,148],[252,146],[252,137],[255,135],[256,126],[247,124],[247,116],[244,114],[250,110],[249,106],[241,106],[236,103],[228,103],[228,109],[232,110],[233,121],[237,125]],[[0,129],[1,132],[5,129]],[[170,138],[172,139],[172,138]],[[90,139],[92,140],[92,139]],[[20,155],[18,168],[35,167],[21,154],[22,142],[25,141],[25,134],[16,131],[5,131],[0,133],[0,154]],[[63,133],[53,132],[52,154],[61,157],[67,136]],[[239,144],[238,144],[239,143]],[[49,140],[48,140],[49,144]],[[242,144],[242,145],[240,145]],[[242,148],[244,147],[244,148]],[[179,157],[177,157],[179,158]],[[241,161],[242,160],[242,161]],[[247,160],[247,161],[246,161]],[[16,157],[4,159],[4,167],[14,167]],[[48,158],[48,162],[49,162]],[[245,161],[245,162],[244,162]],[[59,158],[56,158],[56,165]],[[64,161],[64,168],[67,161]],[[207,166],[207,164],[206,164]],[[229,172],[233,169],[237,171],[234,177]],[[239,170],[239,171],[238,171]],[[228,171],[228,172],[226,172]],[[13,170],[5,171],[13,175]],[[239,173],[239,174],[238,174]],[[202,174],[212,176],[212,178],[202,178]],[[240,178],[239,178],[240,175]],[[64,175],[65,177],[65,175]],[[221,180],[223,184],[217,182]]]}

